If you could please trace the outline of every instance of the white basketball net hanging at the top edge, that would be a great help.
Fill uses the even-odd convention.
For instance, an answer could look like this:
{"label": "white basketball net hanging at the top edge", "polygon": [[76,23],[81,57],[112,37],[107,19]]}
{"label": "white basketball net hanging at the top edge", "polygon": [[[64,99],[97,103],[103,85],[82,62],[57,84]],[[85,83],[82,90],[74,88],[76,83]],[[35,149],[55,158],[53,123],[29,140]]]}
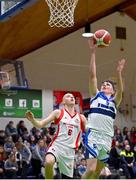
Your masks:
{"label": "white basketball net hanging at the top edge", "polygon": [[78,0],[45,0],[50,9],[51,27],[71,27],[74,25],[74,10]]}

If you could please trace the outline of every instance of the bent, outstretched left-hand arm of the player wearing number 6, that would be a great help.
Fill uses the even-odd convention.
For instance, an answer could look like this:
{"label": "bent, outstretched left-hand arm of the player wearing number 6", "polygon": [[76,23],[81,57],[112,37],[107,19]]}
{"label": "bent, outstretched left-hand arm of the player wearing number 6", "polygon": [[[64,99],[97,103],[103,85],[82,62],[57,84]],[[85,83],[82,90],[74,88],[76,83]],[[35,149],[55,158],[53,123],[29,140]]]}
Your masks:
{"label": "bent, outstretched left-hand arm of the player wearing number 6", "polygon": [[55,121],[60,115],[60,110],[54,110],[53,112],[51,112],[51,114],[39,121],[39,120],[36,120],[35,117],[34,117],[34,114],[31,112],[31,111],[27,111],[26,114],[25,114],[25,117],[37,128],[42,128],[44,126],[46,126],[47,124],[49,124],[50,122],[52,121]]}

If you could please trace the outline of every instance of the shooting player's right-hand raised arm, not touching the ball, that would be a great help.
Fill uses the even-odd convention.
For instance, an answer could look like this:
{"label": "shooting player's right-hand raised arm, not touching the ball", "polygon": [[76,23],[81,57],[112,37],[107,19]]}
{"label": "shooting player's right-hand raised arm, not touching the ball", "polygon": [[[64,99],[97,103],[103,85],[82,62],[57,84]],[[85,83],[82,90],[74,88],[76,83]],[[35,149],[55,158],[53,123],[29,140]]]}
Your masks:
{"label": "shooting player's right-hand raised arm, not touching the ball", "polygon": [[120,105],[120,102],[122,100],[122,93],[123,93],[122,71],[124,69],[125,62],[126,62],[125,59],[121,59],[118,62],[118,66],[117,66],[117,91],[115,95],[115,102],[117,107]]}

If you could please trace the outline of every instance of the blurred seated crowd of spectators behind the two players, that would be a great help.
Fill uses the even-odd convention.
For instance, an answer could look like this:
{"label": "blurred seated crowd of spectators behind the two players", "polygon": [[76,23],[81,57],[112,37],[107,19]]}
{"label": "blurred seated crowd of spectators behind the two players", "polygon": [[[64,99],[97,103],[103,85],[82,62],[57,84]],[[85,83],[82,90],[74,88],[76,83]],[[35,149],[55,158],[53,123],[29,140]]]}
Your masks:
{"label": "blurred seated crowd of spectators behind the two players", "polygon": [[[49,143],[55,136],[54,123],[47,128],[27,129],[20,120],[17,125],[9,121],[0,130],[0,178],[1,179],[44,179],[44,158]],[[84,146],[81,143],[76,151],[74,179],[81,179],[86,171]],[[104,169],[107,176],[100,178],[136,178],[136,127],[123,129],[114,126],[110,158]],[[60,179],[57,164],[54,166],[55,178]]]}

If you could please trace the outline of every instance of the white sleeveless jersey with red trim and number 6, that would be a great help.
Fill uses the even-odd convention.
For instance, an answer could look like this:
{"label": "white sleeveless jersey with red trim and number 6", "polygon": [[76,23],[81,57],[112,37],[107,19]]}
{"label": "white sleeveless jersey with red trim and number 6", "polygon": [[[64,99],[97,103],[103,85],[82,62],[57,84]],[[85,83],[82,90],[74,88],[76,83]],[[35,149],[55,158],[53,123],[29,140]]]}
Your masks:
{"label": "white sleeveless jersey with red trim and number 6", "polygon": [[82,127],[80,114],[71,116],[66,109],[61,110],[60,117],[55,122],[58,125],[52,144],[62,144],[70,148],[78,148]]}

